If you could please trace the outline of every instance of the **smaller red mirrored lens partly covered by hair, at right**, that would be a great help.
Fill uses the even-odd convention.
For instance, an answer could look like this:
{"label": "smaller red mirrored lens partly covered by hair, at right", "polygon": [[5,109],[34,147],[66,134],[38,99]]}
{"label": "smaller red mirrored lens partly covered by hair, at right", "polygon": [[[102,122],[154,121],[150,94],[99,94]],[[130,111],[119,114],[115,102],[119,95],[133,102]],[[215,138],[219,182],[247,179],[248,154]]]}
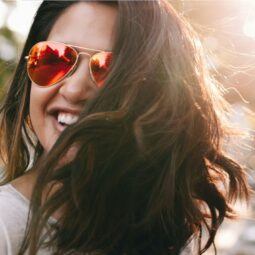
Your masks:
{"label": "smaller red mirrored lens partly covered by hair, at right", "polygon": [[111,52],[99,52],[90,59],[91,75],[98,87],[102,87],[112,63]]}

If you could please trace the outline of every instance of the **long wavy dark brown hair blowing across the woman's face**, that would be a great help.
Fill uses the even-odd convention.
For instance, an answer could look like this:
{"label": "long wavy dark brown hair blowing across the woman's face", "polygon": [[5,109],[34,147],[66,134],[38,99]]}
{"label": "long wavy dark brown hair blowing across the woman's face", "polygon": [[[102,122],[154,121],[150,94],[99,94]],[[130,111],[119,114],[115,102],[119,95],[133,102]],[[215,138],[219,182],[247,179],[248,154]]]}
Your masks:
{"label": "long wavy dark brown hair blowing across the woman's face", "polygon": [[[179,254],[192,237],[201,241],[205,226],[203,253],[233,213],[229,202],[247,198],[248,188],[242,167],[223,150],[230,108],[222,87],[206,70],[195,32],[168,1],[102,2],[118,7],[104,88],[48,155],[31,140],[24,56],[74,3],[41,4],[1,108],[2,184],[24,174],[31,145],[39,174],[19,254],[36,254],[41,244],[55,247],[54,254]],[[59,166],[72,146],[74,158]],[[58,188],[42,203],[49,184]],[[48,226],[59,208],[63,214]]]}

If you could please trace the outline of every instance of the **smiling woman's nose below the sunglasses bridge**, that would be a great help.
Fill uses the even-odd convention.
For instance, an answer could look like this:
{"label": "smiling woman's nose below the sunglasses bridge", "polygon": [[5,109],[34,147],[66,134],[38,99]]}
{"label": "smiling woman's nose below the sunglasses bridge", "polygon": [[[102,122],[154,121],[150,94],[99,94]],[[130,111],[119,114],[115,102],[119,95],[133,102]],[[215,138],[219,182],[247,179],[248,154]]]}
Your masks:
{"label": "smiling woman's nose below the sunglasses bridge", "polygon": [[93,97],[97,87],[90,77],[88,66],[89,58],[83,56],[79,58],[74,72],[62,81],[58,93],[68,102],[78,104]]}

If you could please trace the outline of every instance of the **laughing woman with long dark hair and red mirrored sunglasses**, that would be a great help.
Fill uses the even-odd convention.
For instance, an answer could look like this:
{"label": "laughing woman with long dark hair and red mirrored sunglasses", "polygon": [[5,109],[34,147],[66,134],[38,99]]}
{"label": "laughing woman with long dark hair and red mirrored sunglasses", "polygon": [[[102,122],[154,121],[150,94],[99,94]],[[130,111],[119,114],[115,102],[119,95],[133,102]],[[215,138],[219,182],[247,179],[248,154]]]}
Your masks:
{"label": "laughing woman with long dark hair and red mirrored sunglasses", "polygon": [[197,238],[203,253],[248,196],[228,109],[166,0],[43,2],[1,108],[3,249],[163,255]]}

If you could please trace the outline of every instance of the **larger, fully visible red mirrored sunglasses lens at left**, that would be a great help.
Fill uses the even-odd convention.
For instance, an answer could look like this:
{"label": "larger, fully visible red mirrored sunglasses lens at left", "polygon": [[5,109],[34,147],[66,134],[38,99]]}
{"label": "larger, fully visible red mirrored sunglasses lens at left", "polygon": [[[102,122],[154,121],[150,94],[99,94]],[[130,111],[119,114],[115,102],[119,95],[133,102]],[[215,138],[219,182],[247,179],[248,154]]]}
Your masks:
{"label": "larger, fully visible red mirrored sunglasses lens at left", "polygon": [[50,86],[72,70],[76,58],[76,51],[63,43],[40,42],[29,53],[28,74],[37,85]]}

